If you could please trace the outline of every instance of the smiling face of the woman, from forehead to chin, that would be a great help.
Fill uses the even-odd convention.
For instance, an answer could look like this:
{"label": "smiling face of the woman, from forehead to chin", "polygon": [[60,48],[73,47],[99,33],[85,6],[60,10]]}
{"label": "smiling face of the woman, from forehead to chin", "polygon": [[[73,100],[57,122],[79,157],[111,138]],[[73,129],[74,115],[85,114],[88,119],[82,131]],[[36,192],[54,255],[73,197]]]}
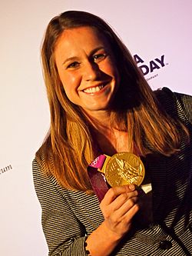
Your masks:
{"label": "smiling face of the woman, from forehead to chin", "polygon": [[88,115],[110,108],[119,76],[111,47],[101,33],[91,27],[65,30],[55,47],[55,62],[71,102]]}

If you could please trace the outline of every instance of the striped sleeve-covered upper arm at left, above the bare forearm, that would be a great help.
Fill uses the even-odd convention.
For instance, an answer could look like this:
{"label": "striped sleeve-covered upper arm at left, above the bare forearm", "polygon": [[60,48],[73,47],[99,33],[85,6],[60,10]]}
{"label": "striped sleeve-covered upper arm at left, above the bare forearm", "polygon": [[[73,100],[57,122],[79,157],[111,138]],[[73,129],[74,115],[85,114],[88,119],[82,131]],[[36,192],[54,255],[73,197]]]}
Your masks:
{"label": "striped sleeve-covered upper arm at left, above the bare forearm", "polygon": [[42,227],[50,256],[85,256],[84,226],[74,216],[54,180],[43,175],[33,161],[35,191],[42,208]]}

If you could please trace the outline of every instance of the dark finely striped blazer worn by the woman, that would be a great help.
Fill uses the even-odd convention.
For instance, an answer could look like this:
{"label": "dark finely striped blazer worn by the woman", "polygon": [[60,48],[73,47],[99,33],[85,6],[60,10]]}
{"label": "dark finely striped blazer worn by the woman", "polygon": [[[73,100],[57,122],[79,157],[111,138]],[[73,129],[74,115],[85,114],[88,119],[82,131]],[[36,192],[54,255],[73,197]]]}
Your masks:
{"label": "dark finely striped blazer worn by the woman", "polygon": [[[192,140],[192,97],[167,88],[157,97],[169,115],[187,125]],[[85,256],[85,236],[104,221],[98,198],[61,188],[54,177],[42,174],[43,165],[33,161],[33,177],[49,255]],[[154,222],[143,228],[136,223],[111,255],[191,255],[192,142],[182,141],[179,153],[171,157],[149,155],[144,165],[151,175]]]}

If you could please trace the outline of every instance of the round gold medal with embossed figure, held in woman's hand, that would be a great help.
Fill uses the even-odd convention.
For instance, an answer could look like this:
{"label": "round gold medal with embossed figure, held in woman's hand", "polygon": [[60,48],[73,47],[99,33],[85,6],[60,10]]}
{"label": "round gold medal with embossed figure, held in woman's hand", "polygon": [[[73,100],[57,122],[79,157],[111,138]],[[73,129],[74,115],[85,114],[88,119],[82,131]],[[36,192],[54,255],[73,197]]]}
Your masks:
{"label": "round gold medal with embossed figure, held in woman's hand", "polygon": [[141,185],[144,180],[144,164],[141,159],[132,153],[121,152],[109,157],[106,160],[101,171],[104,173],[108,184],[111,187],[121,185]]}

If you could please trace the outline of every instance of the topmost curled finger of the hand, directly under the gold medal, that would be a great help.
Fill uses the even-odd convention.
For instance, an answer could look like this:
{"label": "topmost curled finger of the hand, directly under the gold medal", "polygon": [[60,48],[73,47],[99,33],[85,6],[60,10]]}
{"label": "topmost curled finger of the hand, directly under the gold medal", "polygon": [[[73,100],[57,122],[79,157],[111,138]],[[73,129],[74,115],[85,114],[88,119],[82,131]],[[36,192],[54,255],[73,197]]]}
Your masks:
{"label": "topmost curled finger of the hand, directly under the gold medal", "polygon": [[124,185],[124,186],[110,188],[108,192],[104,195],[104,198],[102,201],[104,204],[111,204],[111,202],[114,201],[114,199],[117,198],[120,194],[124,194],[134,190],[135,190],[134,185]]}

